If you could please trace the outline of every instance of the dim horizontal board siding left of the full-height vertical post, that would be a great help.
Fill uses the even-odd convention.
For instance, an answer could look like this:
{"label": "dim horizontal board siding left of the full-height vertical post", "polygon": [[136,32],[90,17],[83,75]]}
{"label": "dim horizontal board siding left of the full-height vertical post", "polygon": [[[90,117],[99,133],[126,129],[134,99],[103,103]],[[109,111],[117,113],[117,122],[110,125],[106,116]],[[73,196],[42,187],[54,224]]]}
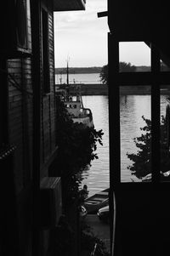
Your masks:
{"label": "dim horizontal board siding left of the full-height vertical post", "polygon": [[31,60],[8,60],[9,141],[16,145],[14,177],[17,193],[31,179],[32,93]]}

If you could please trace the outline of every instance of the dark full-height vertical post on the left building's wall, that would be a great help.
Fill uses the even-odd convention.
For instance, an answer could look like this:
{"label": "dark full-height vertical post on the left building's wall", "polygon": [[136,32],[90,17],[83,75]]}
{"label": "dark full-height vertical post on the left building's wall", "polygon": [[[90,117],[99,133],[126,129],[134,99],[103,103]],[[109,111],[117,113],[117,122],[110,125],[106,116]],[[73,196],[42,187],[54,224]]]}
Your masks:
{"label": "dark full-height vertical post on the left building's wall", "polygon": [[41,10],[40,1],[31,0],[32,83],[33,83],[33,172],[32,172],[32,255],[39,252],[40,153],[41,153]]}

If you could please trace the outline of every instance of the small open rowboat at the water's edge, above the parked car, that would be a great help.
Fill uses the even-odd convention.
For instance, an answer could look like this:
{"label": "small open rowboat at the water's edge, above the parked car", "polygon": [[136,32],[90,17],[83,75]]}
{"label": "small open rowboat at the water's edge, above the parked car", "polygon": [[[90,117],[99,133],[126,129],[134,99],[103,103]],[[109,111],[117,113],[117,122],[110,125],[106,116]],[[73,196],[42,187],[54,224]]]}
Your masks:
{"label": "small open rowboat at the water's edge, above the parked car", "polygon": [[93,196],[89,196],[84,200],[83,206],[88,213],[97,213],[99,208],[103,208],[109,204],[109,188],[99,191]]}

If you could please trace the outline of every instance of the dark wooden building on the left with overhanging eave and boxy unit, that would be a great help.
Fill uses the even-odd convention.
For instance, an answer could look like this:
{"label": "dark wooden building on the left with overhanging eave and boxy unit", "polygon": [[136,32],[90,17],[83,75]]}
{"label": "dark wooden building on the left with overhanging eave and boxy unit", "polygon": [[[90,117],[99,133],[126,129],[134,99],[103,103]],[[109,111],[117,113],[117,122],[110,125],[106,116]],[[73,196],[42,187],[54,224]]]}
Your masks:
{"label": "dark wooden building on the left with overhanging eave and boxy unit", "polygon": [[[60,198],[59,178],[49,177],[49,168],[59,168],[54,164],[57,154],[54,11],[82,9],[85,9],[82,0],[7,0],[1,9],[0,254],[3,256],[45,255],[49,226],[43,230],[42,219],[48,216],[47,223],[53,226],[61,213],[60,202],[56,206]],[[47,210],[41,202],[47,203],[47,212],[41,212],[41,208]],[[54,210],[57,218],[52,214]]]}

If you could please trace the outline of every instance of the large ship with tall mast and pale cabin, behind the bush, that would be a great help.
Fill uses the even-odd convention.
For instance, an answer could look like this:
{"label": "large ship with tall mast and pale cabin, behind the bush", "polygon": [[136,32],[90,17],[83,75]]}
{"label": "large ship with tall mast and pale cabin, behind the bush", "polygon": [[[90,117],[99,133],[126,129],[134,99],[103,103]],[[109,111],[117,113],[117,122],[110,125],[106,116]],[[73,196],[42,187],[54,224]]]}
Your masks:
{"label": "large ship with tall mast and pale cabin, behind the bush", "polygon": [[85,128],[94,128],[92,111],[83,106],[81,84],[77,84],[76,82],[70,84],[68,76],[67,63],[67,83],[61,84],[56,88],[55,94],[59,95],[60,99],[64,102],[65,108],[73,122],[82,123]]}

